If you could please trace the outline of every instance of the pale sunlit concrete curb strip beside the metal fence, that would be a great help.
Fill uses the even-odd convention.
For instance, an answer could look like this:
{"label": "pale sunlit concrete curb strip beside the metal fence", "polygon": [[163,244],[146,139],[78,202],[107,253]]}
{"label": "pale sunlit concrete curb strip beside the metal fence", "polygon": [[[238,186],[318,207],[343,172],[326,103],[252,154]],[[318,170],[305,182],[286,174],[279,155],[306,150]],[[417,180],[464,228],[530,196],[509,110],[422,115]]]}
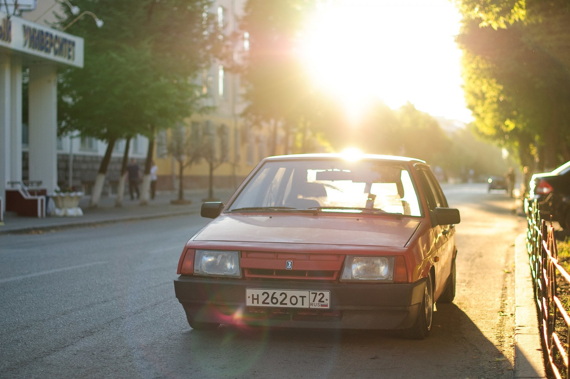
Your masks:
{"label": "pale sunlit concrete curb strip beside the metal fence", "polygon": [[526,235],[515,239],[515,369],[514,378],[547,378],[540,343]]}

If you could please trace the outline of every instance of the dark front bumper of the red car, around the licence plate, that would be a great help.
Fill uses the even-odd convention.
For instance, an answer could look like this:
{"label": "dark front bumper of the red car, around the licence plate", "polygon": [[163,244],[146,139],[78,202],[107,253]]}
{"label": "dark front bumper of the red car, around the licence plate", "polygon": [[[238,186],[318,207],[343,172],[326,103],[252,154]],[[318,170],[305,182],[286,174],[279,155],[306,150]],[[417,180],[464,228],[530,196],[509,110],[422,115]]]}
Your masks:
{"label": "dark front bumper of the red car, around the licence plate", "polygon": [[[331,292],[331,309],[246,307],[246,288]],[[345,284],[179,276],[174,292],[194,321],[295,328],[404,329],[413,325],[425,279],[415,283]]]}

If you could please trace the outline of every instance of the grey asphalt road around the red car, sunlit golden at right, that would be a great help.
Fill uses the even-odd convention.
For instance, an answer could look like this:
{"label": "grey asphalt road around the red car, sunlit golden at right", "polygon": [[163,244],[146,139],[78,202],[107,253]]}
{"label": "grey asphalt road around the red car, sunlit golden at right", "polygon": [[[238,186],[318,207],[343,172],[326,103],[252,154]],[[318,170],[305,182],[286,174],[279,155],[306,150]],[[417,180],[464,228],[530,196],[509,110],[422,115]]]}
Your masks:
{"label": "grey asphalt road around the red car, sunlit golden at right", "polygon": [[512,378],[514,240],[504,193],[445,186],[457,296],[424,341],[390,332],[192,330],[172,280],[205,223],[178,216],[0,236],[1,378]]}

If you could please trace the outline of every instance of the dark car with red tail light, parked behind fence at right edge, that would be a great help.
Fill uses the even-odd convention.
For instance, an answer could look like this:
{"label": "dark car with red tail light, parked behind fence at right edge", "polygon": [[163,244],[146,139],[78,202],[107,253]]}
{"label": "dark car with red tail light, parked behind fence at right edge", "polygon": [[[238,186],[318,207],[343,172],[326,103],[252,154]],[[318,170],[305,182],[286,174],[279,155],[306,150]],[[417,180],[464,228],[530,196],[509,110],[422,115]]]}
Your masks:
{"label": "dark car with red tail light, parked behind fence at right edge", "polygon": [[532,175],[528,200],[535,199],[543,215],[549,213],[553,221],[570,231],[570,161],[551,172]]}

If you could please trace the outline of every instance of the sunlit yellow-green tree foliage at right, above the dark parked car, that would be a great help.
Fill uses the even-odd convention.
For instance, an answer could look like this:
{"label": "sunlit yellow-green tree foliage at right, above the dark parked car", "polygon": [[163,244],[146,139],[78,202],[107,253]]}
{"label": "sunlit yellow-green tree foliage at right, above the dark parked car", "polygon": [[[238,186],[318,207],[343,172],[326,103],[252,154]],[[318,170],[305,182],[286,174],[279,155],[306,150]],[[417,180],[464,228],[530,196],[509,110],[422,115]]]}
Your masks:
{"label": "sunlit yellow-green tree foliage at right, above the dark parked car", "polygon": [[[496,13],[495,2],[487,5],[480,11]],[[570,21],[570,7],[536,0],[522,5],[524,22],[512,19],[501,26],[507,29],[464,14],[457,40],[464,50],[467,106],[479,134],[515,152],[523,166],[539,160],[539,169],[556,167],[570,159],[570,27],[563,22]]]}

